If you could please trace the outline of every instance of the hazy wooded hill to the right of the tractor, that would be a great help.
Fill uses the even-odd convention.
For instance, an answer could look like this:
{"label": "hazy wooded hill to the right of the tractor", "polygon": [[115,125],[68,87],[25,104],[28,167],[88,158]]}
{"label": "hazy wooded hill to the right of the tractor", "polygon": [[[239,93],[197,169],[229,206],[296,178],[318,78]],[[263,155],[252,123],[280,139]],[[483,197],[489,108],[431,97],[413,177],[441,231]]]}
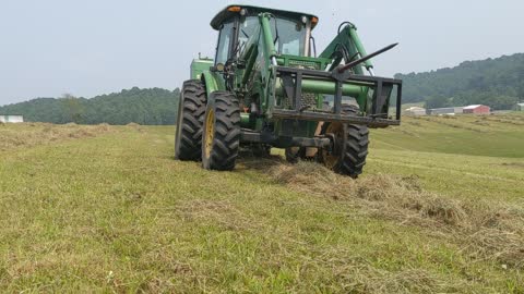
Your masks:
{"label": "hazy wooded hill to the right of the tractor", "polygon": [[425,73],[396,74],[404,81],[403,102],[426,101],[428,107],[483,103],[511,109],[524,100],[524,53]]}

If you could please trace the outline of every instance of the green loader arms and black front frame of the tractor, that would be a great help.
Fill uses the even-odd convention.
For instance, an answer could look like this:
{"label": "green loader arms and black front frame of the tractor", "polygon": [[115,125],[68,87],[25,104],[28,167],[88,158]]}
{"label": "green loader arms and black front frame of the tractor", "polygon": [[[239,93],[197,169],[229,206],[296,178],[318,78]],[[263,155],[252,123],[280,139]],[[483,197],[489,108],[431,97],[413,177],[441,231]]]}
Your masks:
{"label": "green loader arms and black front frame of the tractor", "polygon": [[[369,126],[398,124],[401,82],[373,76],[371,60],[366,58],[373,53],[367,54],[355,25],[343,27],[318,58],[311,58],[281,54],[274,45],[278,39],[272,32],[272,26],[276,26],[274,16],[260,13],[258,17],[258,34],[250,36],[239,58],[245,64],[239,84],[250,87],[250,82],[258,81],[254,88],[261,98],[260,114],[270,120],[344,121]],[[344,73],[340,73],[341,63],[346,64]],[[365,75],[365,70],[370,75]],[[258,77],[253,78],[253,74]],[[392,94],[396,96],[396,113],[390,117]],[[308,95],[310,98],[306,101],[303,97]],[[326,95],[334,97],[331,113],[322,109]],[[357,115],[341,112],[342,105],[349,98],[359,106]]]}

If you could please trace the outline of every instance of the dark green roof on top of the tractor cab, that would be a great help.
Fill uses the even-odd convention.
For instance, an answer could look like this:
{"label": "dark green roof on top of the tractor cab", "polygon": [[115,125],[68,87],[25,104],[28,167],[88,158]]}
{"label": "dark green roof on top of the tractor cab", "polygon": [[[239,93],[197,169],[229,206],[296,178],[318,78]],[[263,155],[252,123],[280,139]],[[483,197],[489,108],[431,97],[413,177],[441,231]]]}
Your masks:
{"label": "dark green roof on top of the tractor cab", "polygon": [[[249,15],[255,15],[262,12],[269,12],[275,15],[284,16],[284,17],[289,17],[289,19],[296,19],[300,20],[301,16],[307,16],[308,19],[315,17],[317,21],[319,17],[317,17],[313,14],[309,13],[302,13],[302,12],[295,12],[295,11],[286,11],[286,10],[278,10],[278,9],[269,9],[269,8],[260,8],[260,7],[252,7],[252,5],[242,5],[242,4],[231,4],[223,9],[221,12],[218,12],[215,17],[211,21],[211,26],[214,29],[219,29],[221,25],[229,20],[230,17],[235,16],[238,14],[239,9],[246,9],[248,11]],[[313,22],[311,25],[311,28],[313,28],[317,25],[317,22]]]}

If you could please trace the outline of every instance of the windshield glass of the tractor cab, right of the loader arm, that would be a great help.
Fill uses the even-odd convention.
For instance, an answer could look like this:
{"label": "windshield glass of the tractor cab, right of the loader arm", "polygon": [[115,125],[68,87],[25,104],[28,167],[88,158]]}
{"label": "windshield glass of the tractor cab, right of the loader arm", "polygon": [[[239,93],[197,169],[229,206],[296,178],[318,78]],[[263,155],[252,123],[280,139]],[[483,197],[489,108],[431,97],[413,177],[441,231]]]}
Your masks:
{"label": "windshield glass of the tractor cab, right of the loader arm", "polygon": [[[275,24],[276,22],[276,30]],[[279,54],[305,56],[306,25],[299,21],[276,19],[271,22],[271,33],[278,39],[275,49]]]}

